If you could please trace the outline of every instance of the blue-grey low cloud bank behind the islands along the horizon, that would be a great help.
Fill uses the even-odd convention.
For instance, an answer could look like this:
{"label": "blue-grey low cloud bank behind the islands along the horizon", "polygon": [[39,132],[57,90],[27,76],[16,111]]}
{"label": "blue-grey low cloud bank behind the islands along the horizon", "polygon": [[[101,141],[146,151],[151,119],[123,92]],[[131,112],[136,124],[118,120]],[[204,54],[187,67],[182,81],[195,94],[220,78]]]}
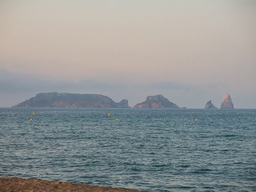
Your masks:
{"label": "blue-grey low cloud bank behind the islands along the horizon", "polygon": [[26,99],[34,97],[37,93],[80,93],[102,94],[112,98],[115,102],[122,99],[129,101],[133,107],[145,101],[149,95],[162,94],[169,101],[179,107],[204,108],[210,99],[220,108],[223,95],[229,93],[235,108],[256,108],[254,92],[242,99],[242,93],[232,90],[223,82],[193,85],[178,82],[102,82],[95,79],[85,79],[80,82],[61,81],[56,79],[43,79],[29,74],[17,74],[0,69],[0,107],[11,107]]}

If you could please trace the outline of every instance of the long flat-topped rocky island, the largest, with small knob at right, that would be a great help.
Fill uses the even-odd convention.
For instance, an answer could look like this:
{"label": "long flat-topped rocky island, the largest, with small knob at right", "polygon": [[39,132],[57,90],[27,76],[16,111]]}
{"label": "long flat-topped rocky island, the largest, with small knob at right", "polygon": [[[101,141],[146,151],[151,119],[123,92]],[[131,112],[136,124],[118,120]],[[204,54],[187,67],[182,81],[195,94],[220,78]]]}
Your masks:
{"label": "long flat-topped rocky island, the largest, with small knob at right", "polygon": [[126,99],[116,103],[104,95],[56,92],[38,93],[35,97],[11,107],[130,108]]}

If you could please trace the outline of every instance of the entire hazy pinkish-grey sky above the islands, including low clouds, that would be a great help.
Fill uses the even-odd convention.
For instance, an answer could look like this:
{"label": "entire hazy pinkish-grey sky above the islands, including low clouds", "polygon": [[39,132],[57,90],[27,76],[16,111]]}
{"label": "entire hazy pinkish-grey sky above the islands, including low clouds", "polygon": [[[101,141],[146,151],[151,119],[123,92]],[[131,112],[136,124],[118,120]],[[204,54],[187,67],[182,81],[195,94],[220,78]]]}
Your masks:
{"label": "entire hazy pinkish-grey sky above the islands, including low clouds", "polygon": [[256,1],[0,1],[0,107],[37,93],[256,108]]}

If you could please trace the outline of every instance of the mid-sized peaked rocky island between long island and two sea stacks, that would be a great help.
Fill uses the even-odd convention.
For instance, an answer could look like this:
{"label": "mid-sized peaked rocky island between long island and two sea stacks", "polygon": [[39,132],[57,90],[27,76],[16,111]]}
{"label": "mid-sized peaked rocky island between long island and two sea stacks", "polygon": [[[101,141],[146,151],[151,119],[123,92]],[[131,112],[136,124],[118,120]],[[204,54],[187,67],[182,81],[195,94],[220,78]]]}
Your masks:
{"label": "mid-sized peaked rocky island between long island and two sea stacks", "polygon": [[170,102],[163,95],[147,96],[146,101],[138,103],[134,108],[179,108],[175,103]]}

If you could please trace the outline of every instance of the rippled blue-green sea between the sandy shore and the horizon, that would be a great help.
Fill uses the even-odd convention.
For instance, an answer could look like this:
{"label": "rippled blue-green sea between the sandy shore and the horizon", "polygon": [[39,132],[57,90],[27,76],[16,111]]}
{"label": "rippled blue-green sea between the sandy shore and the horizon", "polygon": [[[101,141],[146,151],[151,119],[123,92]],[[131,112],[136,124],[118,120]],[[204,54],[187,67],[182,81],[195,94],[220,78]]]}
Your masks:
{"label": "rippled blue-green sea between the sandy shore and the horizon", "polygon": [[256,191],[256,109],[0,108],[0,177]]}

